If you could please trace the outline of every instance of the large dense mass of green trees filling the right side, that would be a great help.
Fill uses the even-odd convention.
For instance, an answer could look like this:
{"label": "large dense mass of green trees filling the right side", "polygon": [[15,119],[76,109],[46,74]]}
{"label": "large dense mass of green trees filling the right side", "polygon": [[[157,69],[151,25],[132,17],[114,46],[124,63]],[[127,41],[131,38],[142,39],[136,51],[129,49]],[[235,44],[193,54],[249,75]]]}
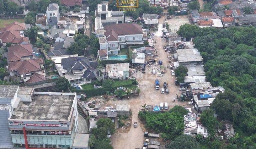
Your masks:
{"label": "large dense mass of green trees filling the right side", "polygon": [[[186,25],[186,28],[194,28]],[[184,34],[185,27],[178,33]],[[188,35],[187,35],[188,36]],[[185,36],[186,37],[186,36]],[[256,28],[231,27],[226,29],[197,28],[193,35],[193,43],[204,59],[206,79],[213,86],[223,86],[210,106],[220,120],[231,120],[240,141],[232,142],[228,148],[254,148],[256,140]],[[216,132],[213,111],[202,113],[202,123],[209,128],[211,136]],[[219,147],[222,142],[212,138],[212,145]],[[253,143],[252,143],[253,142]]]}

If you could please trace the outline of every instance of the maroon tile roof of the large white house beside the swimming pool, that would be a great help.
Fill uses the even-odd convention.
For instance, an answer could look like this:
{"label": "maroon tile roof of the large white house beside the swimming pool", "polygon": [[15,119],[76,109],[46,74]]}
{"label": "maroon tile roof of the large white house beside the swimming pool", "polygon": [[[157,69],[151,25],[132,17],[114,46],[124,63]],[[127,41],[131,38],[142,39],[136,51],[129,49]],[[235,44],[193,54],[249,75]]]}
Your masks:
{"label": "maroon tile roof of the large white house beside the swimming pool", "polygon": [[104,29],[107,41],[118,41],[118,35],[143,34],[142,26],[135,23],[111,24],[105,26]]}

